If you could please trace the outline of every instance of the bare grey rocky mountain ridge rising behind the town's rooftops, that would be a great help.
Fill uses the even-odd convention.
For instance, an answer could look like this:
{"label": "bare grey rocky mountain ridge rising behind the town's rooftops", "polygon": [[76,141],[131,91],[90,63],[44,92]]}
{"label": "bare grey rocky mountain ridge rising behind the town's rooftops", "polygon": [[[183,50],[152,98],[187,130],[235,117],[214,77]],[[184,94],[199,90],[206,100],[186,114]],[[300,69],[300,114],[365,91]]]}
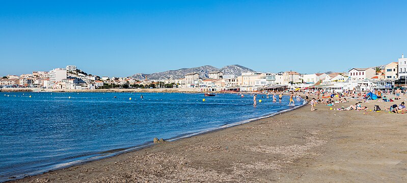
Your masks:
{"label": "bare grey rocky mountain ridge rising behind the town's rooftops", "polygon": [[159,79],[178,79],[178,78],[183,78],[185,74],[188,73],[198,73],[199,77],[202,78],[208,78],[209,73],[213,71],[222,71],[224,74],[234,74],[235,76],[240,76],[241,73],[245,72],[256,72],[250,68],[243,67],[240,65],[230,65],[230,66],[225,66],[221,69],[215,68],[213,66],[200,66],[200,67],[195,67],[195,68],[182,68],[178,70],[170,70],[170,71],[164,71],[164,72],[158,72],[158,73],[152,73],[152,74],[143,74],[143,73],[138,73],[134,74],[131,77],[135,79],[153,79],[153,80],[159,80]]}

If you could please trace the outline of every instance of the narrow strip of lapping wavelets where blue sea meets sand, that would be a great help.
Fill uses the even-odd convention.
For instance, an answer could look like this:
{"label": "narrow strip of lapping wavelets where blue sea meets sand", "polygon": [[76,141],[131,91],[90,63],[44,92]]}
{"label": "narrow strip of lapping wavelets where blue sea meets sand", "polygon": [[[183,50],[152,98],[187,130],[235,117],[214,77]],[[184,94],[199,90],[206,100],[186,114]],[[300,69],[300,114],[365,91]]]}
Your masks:
{"label": "narrow strip of lapping wavelets where blue sea meets sand", "polygon": [[[192,137],[199,136],[199,135],[215,133],[215,132],[227,129],[227,128],[233,128],[233,127],[236,127],[236,126],[239,126],[239,125],[252,123],[252,122],[257,121],[257,120],[270,118],[270,117],[273,117],[275,115],[279,115],[279,114],[282,114],[282,113],[291,112],[291,111],[294,111],[296,109],[302,108],[302,107],[304,107],[304,106],[306,106],[308,104],[308,102],[306,102],[305,99],[302,99],[301,102],[302,102],[302,104],[299,105],[299,106],[292,106],[292,107],[289,107],[287,109],[283,109],[283,110],[280,110],[280,111],[277,111],[277,112],[273,112],[273,113],[270,113],[270,114],[265,114],[263,116],[253,117],[253,118],[246,119],[246,120],[240,120],[240,121],[237,121],[237,122],[234,122],[234,123],[224,124],[224,125],[222,125],[220,127],[203,129],[203,130],[198,131],[198,132],[180,134],[180,135],[171,137],[170,139],[164,139],[164,140],[165,140],[165,142],[174,142],[174,141],[182,140],[182,139],[185,139],[185,138],[192,138]],[[47,172],[58,171],[58,170],[62,170],[62,169],[72,167],[72,166],[81,166],[81,165],[84,165],[84,164],[87,164],[87,163],[90,163],[90,162],[100,161],[100,160],[112,158],[112,157],[115,157],[115,156],[121,156],[121,155],[124,155],[124,154],[127,154],[127,153],[131,153],[131,152],[138,151],[138,150],[141,150],[141,149],[144,149],[144,148],[148,148],[148,147],[151,147],[151,146],[154,146],[154,145],[156,145],[156,144],[153,141],[149,141],[149,142],[145,142],[145,143],[142,143],[140,145],[137,145],[137,146],[127,147],[127,148],[119,148],[120,150],[119,149],[111,149],[111,150],[100,152],[99,154],[97,154],[97,156],[90,157],[90,158],[87,158],[87,159],[84,159],[84,160],[75,160],[75,161],[72,161],[72,162],[58,163],[58,164],[49,166],[48,168],[45,168],[44,170],[38,170],[38,171],[35,171],[35,172],[26,173],[25,175],[16,175],[16,176],[13,176],[13,177],[7,177],[5,180],[2,180],[0,182],[3,182],[3,181],[9,182],[9,181],[14,181],[14,180],[20,180],[20,179],[24,179],[25,177],[33,177],[33,176],[37,176],[37,175],[41,175],[41,174],[46,174]]]}

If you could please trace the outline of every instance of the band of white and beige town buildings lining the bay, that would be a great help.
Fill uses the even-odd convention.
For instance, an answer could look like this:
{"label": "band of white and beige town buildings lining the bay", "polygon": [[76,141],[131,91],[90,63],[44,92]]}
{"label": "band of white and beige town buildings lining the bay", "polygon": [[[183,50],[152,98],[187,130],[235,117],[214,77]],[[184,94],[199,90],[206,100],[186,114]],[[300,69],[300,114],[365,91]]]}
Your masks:
{"label": "band of white and beige town buildings lining the bay", "polygon": [[[253,92],[319,88],[332,92],[358,89],[392,89],[406,85],[407,57],[397,62],[371,68],[351,68],[348,72],[301,74],[296,71],[278,73],[247,72],[236,76],[222,71],[210,71],[208,77],[187,73],[183,78],[144,79],[134,77],[106,77],[88,74],[76,66],[30,74],[7,75],[0,79],[2,88],[42,88],[50,90],[95,90],[108,88],[194,88],[195,92]],[[49,90],[48,90],[49,91]]]}

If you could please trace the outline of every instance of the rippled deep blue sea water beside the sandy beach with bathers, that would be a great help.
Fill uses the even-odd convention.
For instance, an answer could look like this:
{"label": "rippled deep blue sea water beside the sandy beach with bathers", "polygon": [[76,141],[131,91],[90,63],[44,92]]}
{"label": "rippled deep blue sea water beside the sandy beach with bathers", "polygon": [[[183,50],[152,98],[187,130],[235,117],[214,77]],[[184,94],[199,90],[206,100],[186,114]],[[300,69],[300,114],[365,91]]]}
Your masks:
{"label": "rippled deep blue sea water beside the sandy beach with bathers", "polygon": [[236,94],[0,93],[0,181],[292,108],[263,97],[254,107]]}

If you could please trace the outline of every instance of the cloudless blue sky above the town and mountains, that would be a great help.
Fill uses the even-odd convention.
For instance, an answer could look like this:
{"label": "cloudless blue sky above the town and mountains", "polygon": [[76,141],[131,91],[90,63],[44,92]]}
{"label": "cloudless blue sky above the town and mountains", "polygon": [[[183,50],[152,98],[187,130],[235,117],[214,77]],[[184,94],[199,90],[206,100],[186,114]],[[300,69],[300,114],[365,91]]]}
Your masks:
{"label": "cloudless blue sky above the town and mountains", "polygon": [[407,54],[407,1],[3,1],[0,76],[239,64],[347,71]]}

